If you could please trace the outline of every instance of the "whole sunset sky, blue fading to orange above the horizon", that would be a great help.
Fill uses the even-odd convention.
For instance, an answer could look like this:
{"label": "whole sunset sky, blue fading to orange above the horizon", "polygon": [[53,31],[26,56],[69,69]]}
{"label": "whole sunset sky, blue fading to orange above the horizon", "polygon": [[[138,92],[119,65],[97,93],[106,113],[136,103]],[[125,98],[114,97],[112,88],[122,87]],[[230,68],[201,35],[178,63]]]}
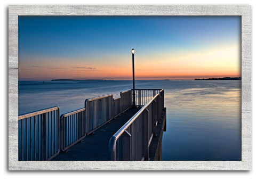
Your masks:
{"label": "whole sunset sky, blue fading to orange above the horizon", "polygon": [[241,77],[239,16],[19,16],[19,80]]}

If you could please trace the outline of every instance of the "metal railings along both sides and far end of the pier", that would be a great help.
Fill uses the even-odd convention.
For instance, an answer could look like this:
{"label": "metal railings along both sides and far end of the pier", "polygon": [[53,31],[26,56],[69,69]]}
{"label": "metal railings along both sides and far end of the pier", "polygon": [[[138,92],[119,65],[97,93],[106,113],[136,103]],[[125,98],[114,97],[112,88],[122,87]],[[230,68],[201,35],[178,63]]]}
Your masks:
{"label": "metal railings along both sides and far end of the pier", "polygon": [[[147,160],[145,145],[150,145],[156,134],[157,122],[163,114],[163,89],[135,91],[136,105],[145,106],[125,124],[128,124],[127,127],[124,125],[120,129],[122,133],[119,130],[110,139],[110,143],[115,140],[114,150],[111,151],[113,160]],[[84,106],[61,117],[58,106],[20,115],[19,160],[51,160],[60,151],[65,152],[86,135],[131,108],[132,90],[121,92],[116,98],[112,94],[89,98]]]}

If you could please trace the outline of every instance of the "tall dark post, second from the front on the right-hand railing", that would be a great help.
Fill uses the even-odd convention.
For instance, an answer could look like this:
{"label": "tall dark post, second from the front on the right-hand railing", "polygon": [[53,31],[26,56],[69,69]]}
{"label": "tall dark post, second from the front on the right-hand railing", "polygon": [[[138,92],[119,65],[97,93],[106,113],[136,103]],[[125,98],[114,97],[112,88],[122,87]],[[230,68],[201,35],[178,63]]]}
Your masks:
{"label": "tall dark post, second from the front on the right-hand railing", "polygon": [[148,158],[148,110],[143,111],[143,155],[144,160],[149,160]]}

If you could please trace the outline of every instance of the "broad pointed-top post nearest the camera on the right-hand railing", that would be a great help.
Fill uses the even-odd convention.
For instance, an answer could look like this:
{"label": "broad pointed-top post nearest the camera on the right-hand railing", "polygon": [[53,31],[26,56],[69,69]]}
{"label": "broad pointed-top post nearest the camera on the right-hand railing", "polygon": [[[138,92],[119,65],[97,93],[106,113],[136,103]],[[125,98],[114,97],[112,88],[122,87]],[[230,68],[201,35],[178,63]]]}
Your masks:
{"label": "broad pointed-top post nearest the camera on the right-hand railing", "polygon": [[122,146],[123,161],[131,161],[132,160],[132,155],[131,155],[132,135],[125,130],[122,135],[122,139],[123,139],[123,143],[122,143],[123,144]]}

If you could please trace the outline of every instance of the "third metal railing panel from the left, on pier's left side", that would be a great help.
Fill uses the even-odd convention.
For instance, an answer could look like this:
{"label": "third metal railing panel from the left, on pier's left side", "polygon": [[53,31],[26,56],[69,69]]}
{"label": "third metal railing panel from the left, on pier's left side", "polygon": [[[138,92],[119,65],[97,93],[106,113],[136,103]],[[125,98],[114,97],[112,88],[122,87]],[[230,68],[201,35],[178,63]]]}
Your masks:
{"label": "third metal railing panel from the left, on pier's left side", "polygon": [[87,135],[113,119],[113,94],[89,98],[85,100],[84,106]]}

